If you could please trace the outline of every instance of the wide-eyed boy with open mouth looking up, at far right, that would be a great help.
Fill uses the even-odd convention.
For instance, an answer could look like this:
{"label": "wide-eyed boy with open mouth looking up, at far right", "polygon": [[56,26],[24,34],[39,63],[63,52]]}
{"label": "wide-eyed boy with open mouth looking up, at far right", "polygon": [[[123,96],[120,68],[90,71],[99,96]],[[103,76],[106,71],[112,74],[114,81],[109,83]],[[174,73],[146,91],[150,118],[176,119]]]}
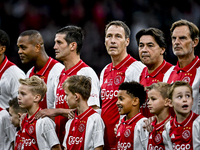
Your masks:
{"label": "wide-eyed boy with open mouth looking up, at far right", "polygon": [[184,81],[176,81],[170,87],[169,98],[176,115],[166,124],[163,140],[171,149],[200,149],[200,116],[191,111],[192,92]]}

